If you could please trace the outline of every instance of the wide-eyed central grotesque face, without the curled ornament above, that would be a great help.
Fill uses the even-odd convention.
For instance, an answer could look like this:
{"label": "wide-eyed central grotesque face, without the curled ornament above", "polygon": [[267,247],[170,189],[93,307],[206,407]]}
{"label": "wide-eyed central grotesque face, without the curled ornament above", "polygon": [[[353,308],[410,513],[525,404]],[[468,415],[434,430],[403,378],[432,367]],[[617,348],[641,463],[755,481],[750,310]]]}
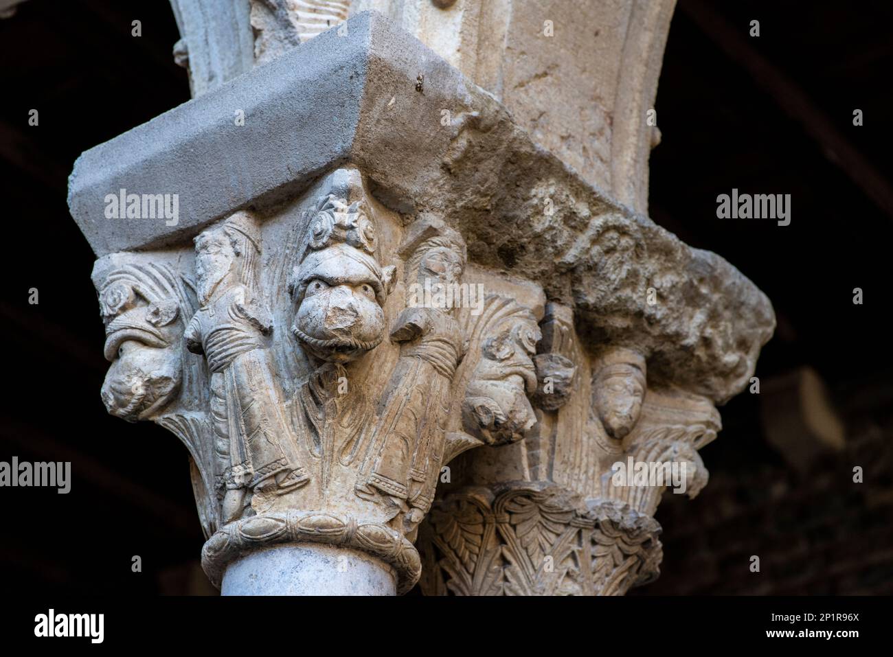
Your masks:
{"label": "wide-eyed central grotesque face, without the curled ornament above", "polygon": [[302,263],[292,332],[313,356],[349,362],[379,345],[385,318],[384,283],[371,258],[338,245]]}

